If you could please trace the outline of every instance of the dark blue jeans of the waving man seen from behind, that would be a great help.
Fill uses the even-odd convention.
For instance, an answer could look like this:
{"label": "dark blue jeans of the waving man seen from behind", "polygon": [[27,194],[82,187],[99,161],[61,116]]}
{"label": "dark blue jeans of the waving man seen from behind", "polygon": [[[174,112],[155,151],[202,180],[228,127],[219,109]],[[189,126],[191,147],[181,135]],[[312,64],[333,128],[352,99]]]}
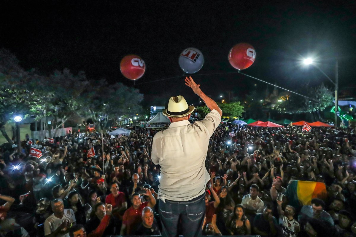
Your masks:
{"label": "dark blue jeans of the waving man seen from behind", "polygon": [[162,222],[162,236],[178,236],[181,220],[184,237],[201,236],[205,216],[204,195],[192,201],[159,200],[159,218]]}

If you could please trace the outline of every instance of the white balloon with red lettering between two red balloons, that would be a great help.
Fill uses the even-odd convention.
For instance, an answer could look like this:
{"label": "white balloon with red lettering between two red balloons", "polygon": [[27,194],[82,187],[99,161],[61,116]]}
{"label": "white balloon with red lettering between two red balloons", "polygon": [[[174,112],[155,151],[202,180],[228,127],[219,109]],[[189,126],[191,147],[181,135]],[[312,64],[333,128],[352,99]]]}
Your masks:
{"label": "white balloon with red lettering between two red balloons", "polygon": [[179,56],[179,66],[186,73],[199,71],[204,64],[204,56],[199,49],[186,48]]}

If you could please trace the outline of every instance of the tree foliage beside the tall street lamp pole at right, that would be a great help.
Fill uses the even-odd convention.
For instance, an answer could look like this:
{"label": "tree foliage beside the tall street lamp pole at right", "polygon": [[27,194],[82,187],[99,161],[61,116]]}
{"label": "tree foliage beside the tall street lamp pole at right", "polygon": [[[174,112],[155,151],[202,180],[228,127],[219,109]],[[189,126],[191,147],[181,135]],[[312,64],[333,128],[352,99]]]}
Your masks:
{"label": "tree foliage beside the tall street lamp pole at right", "polygon": [[276,109],[280,113],[299,114],[323,111],[333,102],[333,92],[321,84],[301,92],[309,98],[290,95],[288,100],[279,102]]}

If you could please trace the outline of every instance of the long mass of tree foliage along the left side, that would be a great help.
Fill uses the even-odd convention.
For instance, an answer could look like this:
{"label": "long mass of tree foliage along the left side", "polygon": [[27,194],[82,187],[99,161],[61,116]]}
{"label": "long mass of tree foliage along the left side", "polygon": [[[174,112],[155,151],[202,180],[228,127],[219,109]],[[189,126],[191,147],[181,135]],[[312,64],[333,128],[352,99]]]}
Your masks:
{"label": "long mass of tree foliage along the left side", "polygon": [[0,130],[10,143],[4,125],[15,114],[45,118],[51,136],[48,117],[61,119],[54,124],[56,129],[78,115],[107,123],[109,119],[143,114],[142,100],[143,95],[135,88],[121,83],[109,85],[104,79],[88,80],[83,71],[73,74],[69,69],[56,70],[49,76],[34,69],[25,71],[14,54],[0,49]]}

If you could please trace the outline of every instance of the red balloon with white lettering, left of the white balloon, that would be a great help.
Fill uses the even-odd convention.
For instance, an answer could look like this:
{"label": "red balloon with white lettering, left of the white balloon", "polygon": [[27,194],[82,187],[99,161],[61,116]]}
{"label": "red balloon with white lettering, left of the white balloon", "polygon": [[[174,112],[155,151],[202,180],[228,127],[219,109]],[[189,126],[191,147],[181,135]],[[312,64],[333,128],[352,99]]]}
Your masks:
{"label": "red balloon with white lettering, left of the white balloon", "polygon": [[127,79],[137,80],[145,73],[146,64],[140,56],[130,54],[122,58],[120,70]]}

